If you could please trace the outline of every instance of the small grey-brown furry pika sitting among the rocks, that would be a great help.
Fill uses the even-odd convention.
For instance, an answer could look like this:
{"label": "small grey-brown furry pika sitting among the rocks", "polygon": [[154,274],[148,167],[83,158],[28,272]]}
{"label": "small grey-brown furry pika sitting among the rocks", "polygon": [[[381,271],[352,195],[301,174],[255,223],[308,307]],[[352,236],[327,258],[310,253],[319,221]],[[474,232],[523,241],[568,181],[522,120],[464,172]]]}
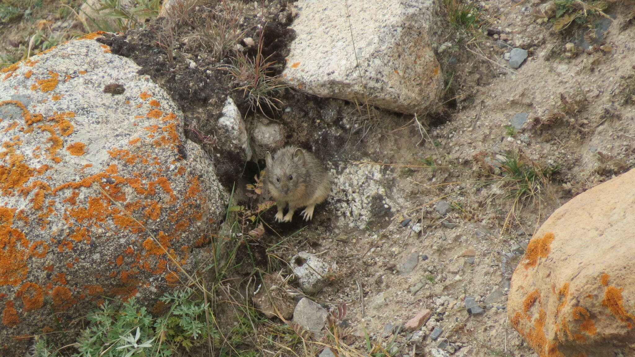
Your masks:
{"label": "small grey-brown furry pika sitting among the rocks", "polygon": [[[293,212],[304,206],[306,208],[300,214],[305,220],[311,220],[315,206],[331,191],[331,177],[322,163],[311,152],[295,146],[283,147],[273,158],[267,152],[265,161],[265,182],[278,208],[276,221],[291,222]],[[283,215],[287,205],[289,212]]]}

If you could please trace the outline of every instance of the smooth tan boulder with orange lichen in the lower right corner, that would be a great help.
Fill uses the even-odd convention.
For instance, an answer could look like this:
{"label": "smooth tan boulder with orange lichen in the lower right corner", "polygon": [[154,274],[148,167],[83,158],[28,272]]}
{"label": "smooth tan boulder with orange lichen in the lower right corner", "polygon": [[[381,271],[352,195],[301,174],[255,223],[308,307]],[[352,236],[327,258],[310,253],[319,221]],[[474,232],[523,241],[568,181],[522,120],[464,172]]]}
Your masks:
{"label": "smooth tan boulder with orange lichen in the lower right corner", "polygon": [[541,357],[635,355],[635,170],[558,208],[512,276],[509,319]]}

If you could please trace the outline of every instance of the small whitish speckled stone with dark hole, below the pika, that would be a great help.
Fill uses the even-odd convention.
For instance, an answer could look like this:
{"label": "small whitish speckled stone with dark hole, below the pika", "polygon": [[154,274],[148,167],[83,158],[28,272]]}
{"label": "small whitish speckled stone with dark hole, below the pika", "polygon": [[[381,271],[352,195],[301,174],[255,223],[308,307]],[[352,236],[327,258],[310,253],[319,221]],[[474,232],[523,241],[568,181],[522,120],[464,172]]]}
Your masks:
{"label": "small whitish speckled stone with dark hole, below the pika", "polygon": [[328,274],[335,273],[337,266],[335,262],[328,264],[309,252],[299,252],[291,258],[291,269],[302,291],[311,295],[322,290]]}

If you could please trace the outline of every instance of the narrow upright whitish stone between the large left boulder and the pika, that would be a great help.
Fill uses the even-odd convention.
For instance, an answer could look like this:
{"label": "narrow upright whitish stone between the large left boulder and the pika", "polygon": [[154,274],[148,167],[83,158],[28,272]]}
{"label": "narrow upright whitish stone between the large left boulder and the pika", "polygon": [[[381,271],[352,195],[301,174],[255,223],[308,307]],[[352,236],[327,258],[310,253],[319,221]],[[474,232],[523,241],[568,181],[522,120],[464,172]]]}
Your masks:
{"label": "narrow upright whitish stone between the large left boulder and the pika", "polygon": [[217,138],[223,147],[232,152],[240,152],[243,161],[251,159],[251,145],[247,127],[234,100],[227,97],[222,116],[217,121]]}

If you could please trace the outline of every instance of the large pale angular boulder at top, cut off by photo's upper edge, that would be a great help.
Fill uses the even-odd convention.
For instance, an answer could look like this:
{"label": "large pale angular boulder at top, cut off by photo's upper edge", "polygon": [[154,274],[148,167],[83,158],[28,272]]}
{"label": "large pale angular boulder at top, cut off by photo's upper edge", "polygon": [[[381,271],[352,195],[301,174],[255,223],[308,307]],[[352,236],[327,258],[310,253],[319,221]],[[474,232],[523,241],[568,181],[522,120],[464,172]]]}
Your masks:
{"label": "large pale angular boulder at top, cut off by photo's upper edge", "polygon": [[291,27],[297,37],[283,72],[291,86],[407,114],[436,102],[443,76],[431,48],[433,32],[441,28],[435,1],[295,4],[298,17]]}

